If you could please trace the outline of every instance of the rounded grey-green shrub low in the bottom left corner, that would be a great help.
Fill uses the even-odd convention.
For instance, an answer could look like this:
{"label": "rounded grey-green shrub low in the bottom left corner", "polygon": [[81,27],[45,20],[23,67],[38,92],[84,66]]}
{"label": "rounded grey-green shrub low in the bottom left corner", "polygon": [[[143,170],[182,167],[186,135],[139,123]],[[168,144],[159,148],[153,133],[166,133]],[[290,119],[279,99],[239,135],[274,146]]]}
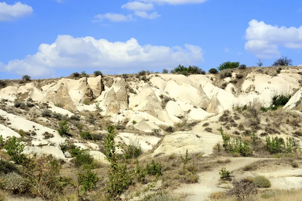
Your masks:
{"label": "rounded grey-green shrub low in the bottom left corner", "polygon": [[1,179],[0,187],[11,193],[27,193],[31,190],[30,181],[16,172],[2,175]]}

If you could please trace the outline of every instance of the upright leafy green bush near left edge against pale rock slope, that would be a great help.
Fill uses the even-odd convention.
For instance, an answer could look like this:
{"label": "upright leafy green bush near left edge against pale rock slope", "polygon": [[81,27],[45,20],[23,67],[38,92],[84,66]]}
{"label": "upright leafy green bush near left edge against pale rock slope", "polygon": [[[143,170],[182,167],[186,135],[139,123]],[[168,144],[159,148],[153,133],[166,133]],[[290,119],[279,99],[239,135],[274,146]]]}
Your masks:
{"label": "upright leafy green bush near left edge against pale rock slope", "polygon": [[7,150],[7,153],[12,157],[12,160],[16,164],[21,164],[24,162],[26,156],[24,153],[25,145],[22,143],[21,139],[17,139],[15,136],[10,137],[4,146]]}

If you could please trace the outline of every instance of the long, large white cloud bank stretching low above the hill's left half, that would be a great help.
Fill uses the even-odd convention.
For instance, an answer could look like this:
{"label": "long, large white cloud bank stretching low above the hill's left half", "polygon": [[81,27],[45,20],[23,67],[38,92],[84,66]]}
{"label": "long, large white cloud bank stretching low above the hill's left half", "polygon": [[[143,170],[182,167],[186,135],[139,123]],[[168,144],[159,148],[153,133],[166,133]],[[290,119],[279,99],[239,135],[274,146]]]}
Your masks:
{"label": "long, large white cloud bank stretching low above the hill's left half", "polygon": [[41,44],[36,54],[0,65],[0,71],[45,77],[52,76],[55,69],[100,68],[121,72],[142,67],[149,70],[169,68],[181,63],[194,65],[196,62],[203,62],[203,52],[194,45],[185,44],[184,48],[142,46],[134,38],[126,42],[109,42],[93,37],[59,35],[53,44]]}

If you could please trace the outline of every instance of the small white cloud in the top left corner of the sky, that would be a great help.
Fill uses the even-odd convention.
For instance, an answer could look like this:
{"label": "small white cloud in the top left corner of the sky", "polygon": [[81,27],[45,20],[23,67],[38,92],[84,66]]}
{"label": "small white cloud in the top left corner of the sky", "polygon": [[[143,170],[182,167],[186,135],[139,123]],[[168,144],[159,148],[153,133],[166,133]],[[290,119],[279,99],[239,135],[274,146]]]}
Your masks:
{"label": "small white cloud in the top left corner of the sky", "polygon": [[8,5],[5,2],[0,2],[0,21],[12,21],[31,15],[34,12],[33,8],[17,2],[14,5]]}

